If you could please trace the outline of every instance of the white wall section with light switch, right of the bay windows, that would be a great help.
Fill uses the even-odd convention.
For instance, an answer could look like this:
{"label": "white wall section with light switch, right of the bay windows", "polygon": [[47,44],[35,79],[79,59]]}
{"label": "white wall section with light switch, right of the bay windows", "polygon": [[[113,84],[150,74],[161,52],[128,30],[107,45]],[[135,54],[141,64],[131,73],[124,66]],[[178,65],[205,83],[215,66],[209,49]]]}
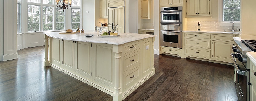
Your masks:
{"label": "white wall section with light switch, right of the bay windows", "polygon": [[[97,4],[97,6],[95,4]],[[95,9],[96,7],[97,9],[100,9],[99,4],[99,0],[83,0],[81,7],[83,12],[82,23],[84,30],[95,30],[95,16],[100,16],[100,12],[95,12]]]}

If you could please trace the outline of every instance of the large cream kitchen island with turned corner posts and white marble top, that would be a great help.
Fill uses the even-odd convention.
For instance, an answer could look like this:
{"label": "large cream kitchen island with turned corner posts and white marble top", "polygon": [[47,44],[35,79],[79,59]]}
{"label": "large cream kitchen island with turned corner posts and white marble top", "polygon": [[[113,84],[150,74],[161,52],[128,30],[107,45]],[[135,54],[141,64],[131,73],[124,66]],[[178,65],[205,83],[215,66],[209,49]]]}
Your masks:
{"label": "large cream kitchen island with turned corner posts and white marble top", "polygon": [[[87,38],[85,34],[94,37]],[[114,101],[121,101],[155,74],[156,35],[118,34],[119,37],[100,37],[92,31],[46,32],[44,66],[58,69],[110,94]]]}

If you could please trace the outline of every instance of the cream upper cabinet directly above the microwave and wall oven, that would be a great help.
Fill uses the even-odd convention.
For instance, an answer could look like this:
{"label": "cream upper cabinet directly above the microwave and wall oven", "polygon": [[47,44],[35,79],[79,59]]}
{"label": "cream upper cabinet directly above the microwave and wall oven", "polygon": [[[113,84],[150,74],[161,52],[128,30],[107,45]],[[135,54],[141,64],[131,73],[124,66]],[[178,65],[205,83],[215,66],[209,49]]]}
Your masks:
{"label": "cream upper cabinet directly above the microwave and wall oven", "polygon": [[182,6],[182,0],[161,0],[161,7]]}

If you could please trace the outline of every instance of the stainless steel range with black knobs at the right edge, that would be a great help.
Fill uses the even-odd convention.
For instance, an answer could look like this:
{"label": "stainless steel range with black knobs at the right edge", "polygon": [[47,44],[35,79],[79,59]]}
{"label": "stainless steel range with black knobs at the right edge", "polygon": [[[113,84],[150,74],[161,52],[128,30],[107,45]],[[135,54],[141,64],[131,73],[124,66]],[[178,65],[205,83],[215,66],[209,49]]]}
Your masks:
{"label": "stainless steel range with black knobs at the right edge", "polygon": [[250,61],[246,56],[246,52],[256,51],[256,41],[241,40],[234,38],[235,46],[232,47],[235,54],[233,63],[236,71],[236,91],[239,101],[250,101]]}

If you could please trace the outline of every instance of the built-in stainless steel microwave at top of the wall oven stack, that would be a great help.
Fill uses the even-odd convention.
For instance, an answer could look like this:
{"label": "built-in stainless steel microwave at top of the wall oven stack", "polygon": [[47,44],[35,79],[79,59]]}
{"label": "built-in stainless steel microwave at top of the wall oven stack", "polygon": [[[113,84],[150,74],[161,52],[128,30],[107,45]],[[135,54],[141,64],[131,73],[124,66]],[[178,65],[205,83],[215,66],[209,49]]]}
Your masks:
{"label": "built-in stainless steel microwave at top of the wall oven stack", "polygon": [[182,6],[161,7],[161,24],[163,23],[182,23]]}

